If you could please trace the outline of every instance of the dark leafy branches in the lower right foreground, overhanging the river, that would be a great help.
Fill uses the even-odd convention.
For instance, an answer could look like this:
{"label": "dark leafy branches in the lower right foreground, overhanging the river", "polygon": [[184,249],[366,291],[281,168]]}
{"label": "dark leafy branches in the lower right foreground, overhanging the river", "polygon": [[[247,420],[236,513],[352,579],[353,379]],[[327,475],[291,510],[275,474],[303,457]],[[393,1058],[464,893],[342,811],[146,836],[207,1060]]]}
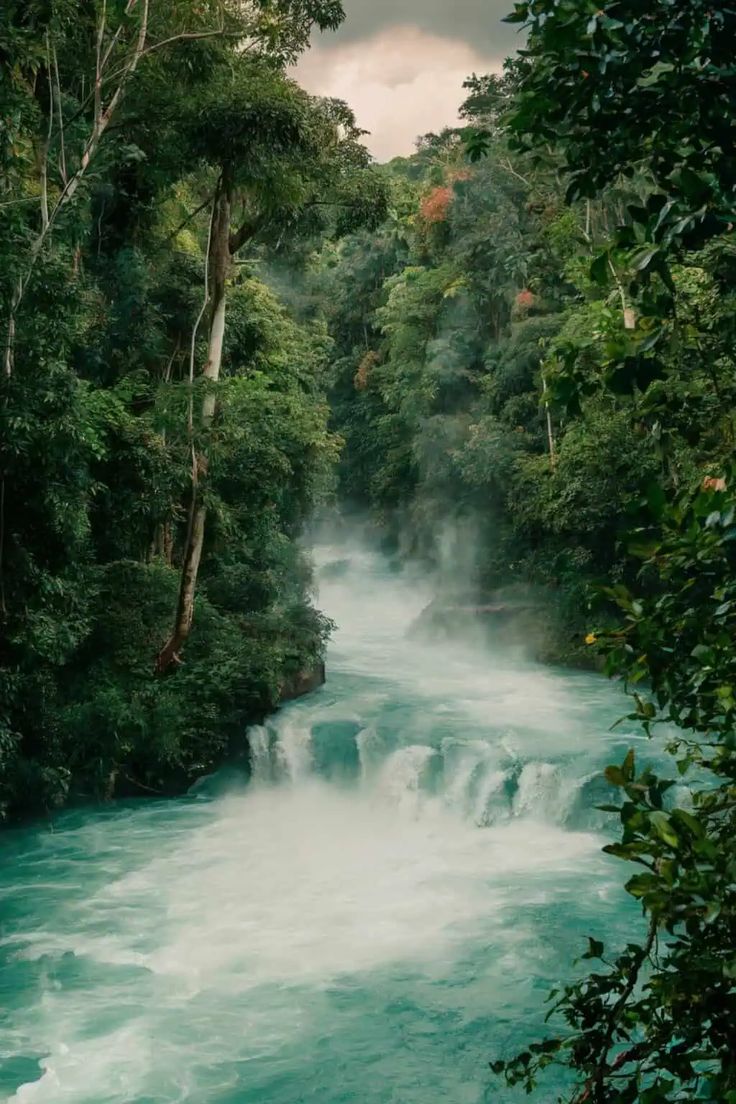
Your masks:
{"label": "dark leafy branches in the lower right foreground, overhanging the river", "polygon": [[[648,934],[612,959],[591,940],[585,957],[600,959],[605,970],[555,994],[570,1033],[494,1068],[532,1091],[551,1062],[563,1062],[583,1085],[574,1097],[580,1101],[728,1101],[736,1010],[735,507],[725,488],[673,502],[652,498],[659,520],[636,534],[632,548],[642,561],[639,593],[615,588],[625,619],[600,634],[609,670],[625,672],[632,687],[631,718],[647,731],[676,725],[669,746],[674,777],[637,771],[633,752],[607,771],[621,790],[615,810],[622,835],[606,850],[643,868],[627,890],[642,904]],[[668,799],[678,777],[690,779],[686,803]]]}

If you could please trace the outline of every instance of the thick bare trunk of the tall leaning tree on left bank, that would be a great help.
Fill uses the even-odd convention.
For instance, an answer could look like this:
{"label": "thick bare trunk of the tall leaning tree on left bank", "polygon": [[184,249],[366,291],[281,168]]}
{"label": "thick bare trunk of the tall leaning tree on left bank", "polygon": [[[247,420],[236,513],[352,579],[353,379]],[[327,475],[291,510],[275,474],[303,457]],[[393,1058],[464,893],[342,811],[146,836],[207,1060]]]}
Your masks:
{"label": "thick bare trunk of the tall leaning tree on left bank", "polygon": [[[209,274],[212,287],[212,308],[210,316],[210,333],[207,342],[207,360],[202,375],[211,383],[217,383],[222,368],[223,344],[225,339],[225,317],[227,307],[227,277],[231,268],[230,226],[232,209],[232,188],[223,176],[214,200],[212,231],[209,255]],[[198,450],[192,450],[192,500],[186,531],[186,544],[181,570],[179,602],[171,636],[159,652],[157,670],[167,671],[173,664],[181,662],[180,652],[189,638],[194,619],[194,595],[196,580],[202,561],[202,548],[206,529],[207,508],[202,495],[202,482],[207,474],[206,437],[215,414],[216,396],[214,390],[207,390],[202,400],[202,434],[203,444]]]}

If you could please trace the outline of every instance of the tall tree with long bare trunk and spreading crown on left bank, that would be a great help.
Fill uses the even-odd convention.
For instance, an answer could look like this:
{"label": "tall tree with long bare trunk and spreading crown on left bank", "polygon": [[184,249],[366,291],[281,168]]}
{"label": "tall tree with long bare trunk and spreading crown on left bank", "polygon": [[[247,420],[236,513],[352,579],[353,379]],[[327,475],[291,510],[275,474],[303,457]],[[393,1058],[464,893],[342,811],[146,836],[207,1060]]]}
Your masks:
{"label": "tall tree with long bare trunk and spreading crown on left bank", "polygon": [[[314,209],[337,211],[333,222],[338,230],[351,221],[375,216],[382,202],[348,108],[337,102],[310,99],[280,72],[244,56],[233,64],[222,85],[209,87],[204,100],[192,106],[194,153],[217,166],[200,316],[207,319],[201,372],[207,390],[199,416],[202,440],[193,445],[190,520],[179,602],[173,630],[157,660],[160,671],[179,661],[194,615],[207,512],[202,486],[209,464],[206,437],[215,416],[213,385],[222,370],[227,286],[234,258],[260,236],[273,235],[275,229],[281,241],[289,230],[316,233],[310,217]],[[222,150],[226,150],[226,159]],[[345,209],[351,212],[350,219],[345,217]],[[323,220],[321,229],[327,229]],[[199,321],[192,349],[198,329]],[[193,358],[194,353],[192,381]]]}

